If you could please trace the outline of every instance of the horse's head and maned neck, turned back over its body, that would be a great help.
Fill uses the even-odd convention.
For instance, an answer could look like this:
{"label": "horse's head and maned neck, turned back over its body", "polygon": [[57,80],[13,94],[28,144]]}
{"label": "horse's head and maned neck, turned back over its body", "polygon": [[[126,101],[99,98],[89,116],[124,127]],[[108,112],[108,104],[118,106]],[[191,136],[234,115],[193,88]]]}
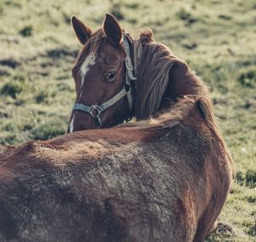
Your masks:
{"label": "horse's head and maned neck, turned back over its body", "polygon": [[94,33],[74,16],[72,24],[83,48],[72,70],[76,100],[67,133],[149,118],[183,95],[209,96],[183,60],[154,42],[149,28],[132,39],[111,14]]}

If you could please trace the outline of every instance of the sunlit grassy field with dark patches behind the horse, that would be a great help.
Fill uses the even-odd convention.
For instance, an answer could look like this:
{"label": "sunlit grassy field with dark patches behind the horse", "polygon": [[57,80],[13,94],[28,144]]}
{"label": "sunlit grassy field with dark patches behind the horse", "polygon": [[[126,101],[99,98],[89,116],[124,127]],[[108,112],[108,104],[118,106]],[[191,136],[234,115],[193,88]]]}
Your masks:
{"label": "sunlit grassy field with dark patches behind the horse", "polygon": [[212,88],[215,113],[236,164],[236,179],[207,241],[256,241],[256,3],[0,0],[0,143],[49,139],[67,130],[71,78],[80,48],[76,15],[92,29],[112,13],[126,31],[153,29]]}

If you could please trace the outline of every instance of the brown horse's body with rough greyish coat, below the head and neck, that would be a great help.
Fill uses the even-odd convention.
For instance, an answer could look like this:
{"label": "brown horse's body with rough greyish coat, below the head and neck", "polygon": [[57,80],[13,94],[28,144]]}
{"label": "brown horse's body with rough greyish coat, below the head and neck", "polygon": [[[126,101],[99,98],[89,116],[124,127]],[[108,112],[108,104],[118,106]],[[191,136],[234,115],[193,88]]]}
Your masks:
{"label": "brown horse's body with rough greyish coat, below the head and neck", "polygon": [[223,142],[189,98],[148,122],[0,153],[0,240],[203,240],[230,189]]}

